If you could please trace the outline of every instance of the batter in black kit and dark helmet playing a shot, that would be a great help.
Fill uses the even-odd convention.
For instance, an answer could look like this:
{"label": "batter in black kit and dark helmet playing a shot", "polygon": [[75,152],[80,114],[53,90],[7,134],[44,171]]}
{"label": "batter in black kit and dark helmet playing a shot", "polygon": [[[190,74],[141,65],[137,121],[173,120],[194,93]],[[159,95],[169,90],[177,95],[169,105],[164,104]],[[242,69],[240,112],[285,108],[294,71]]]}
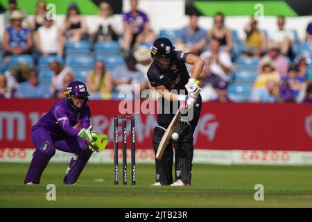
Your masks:
{"label": "batter in black kit and dark helmet playing a shot", "polygon": [[[186,121],[182,118],[182,121],[175,126],[174,132],[180,135],[177,141],[173,143],[171,140],[166,146],[162,159],[155,159],[156,182],[154,185],[190,185],[194,150],[193,133],[197,126],[201,109],[200,88],[196,84],[196,78],[202,72],[204,62],[191,53],[175,51],[171,41],[164,37],[155,40],[150,53],[153,58],[153,63],[148,69],[150,85],[157,90],[161,90],[162,97],[160,99],[162,101],[159,102],[165,104],[165,99],[171,101],[169,113],[166,113],[164,110],[166,106],[163,106],[162,110],[158,110],[157,123],[159,126],[154,128],[153,135],[155,155],[159,142],[175,115],[172,109],[173,102],[186,101],[187,111],[193,112],[193,119]],[[193,65],[191,76],[187,71],[185,63]],[[177,94],[169,92],[172,89],[177,89]],[[175,182],[173,182],[172,176],[172,144],[174,144],[175,150]]]}

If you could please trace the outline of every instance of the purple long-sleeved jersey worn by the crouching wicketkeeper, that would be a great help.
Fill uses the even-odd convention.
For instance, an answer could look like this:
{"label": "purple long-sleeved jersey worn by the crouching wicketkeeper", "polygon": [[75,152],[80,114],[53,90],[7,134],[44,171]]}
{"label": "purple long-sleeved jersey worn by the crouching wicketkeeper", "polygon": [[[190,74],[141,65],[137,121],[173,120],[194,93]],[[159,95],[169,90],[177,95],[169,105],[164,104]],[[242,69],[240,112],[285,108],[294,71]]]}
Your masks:
{"label": "purple long-sleeved jersey worn by the crouching wicketkeeper", "polygon": [[83,111],[73,110],[69,108],[66,99],[62,99],[52,106],[51,110],[46,113],[35,125],[36,128],[45,128],[53,135],[69,135],[78,137],[79,130],[73,128],[78,121],[81,123],[81,128],[88,128],[90,125],[90,108],[87,105]]}

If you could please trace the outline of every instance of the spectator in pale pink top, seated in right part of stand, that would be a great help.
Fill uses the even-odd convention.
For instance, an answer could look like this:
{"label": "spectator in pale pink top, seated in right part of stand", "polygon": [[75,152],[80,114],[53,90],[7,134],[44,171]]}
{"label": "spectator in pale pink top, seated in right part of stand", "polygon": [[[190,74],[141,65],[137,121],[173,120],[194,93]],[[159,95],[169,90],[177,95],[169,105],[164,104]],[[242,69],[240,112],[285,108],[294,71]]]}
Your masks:
{"label": "spectator in pale pink top, seated in right part of stand", "polygon": [[280,76],[286,76],[288,70],[288,61],[285,56],[279,54],[279,48],[275,44],[270,44],[268,46],[268,53],[263,56],[258,65],[258,73],[261,71],[263,62],[271,60],[275,71],[279,73]]}

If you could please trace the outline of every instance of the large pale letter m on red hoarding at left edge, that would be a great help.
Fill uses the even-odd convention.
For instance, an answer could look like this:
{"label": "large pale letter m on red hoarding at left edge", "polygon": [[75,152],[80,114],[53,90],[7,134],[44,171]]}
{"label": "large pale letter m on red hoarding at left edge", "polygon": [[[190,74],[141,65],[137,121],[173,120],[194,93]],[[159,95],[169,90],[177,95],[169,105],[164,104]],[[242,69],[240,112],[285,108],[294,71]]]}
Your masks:
{"label": "large pale letter m on red hoarding at left edge", "polygon": [[[15,126],[17,126],[16,130]],[[15,132],[17,132],[17,140],[25,140],[25,127],[26,123],[23,112],[0,112],[0,141],[4,140],[4,135],[6,135],[6,140],[8,141],[16,139]],[[6,130],[6,133],[4,133],[3,129]]]}

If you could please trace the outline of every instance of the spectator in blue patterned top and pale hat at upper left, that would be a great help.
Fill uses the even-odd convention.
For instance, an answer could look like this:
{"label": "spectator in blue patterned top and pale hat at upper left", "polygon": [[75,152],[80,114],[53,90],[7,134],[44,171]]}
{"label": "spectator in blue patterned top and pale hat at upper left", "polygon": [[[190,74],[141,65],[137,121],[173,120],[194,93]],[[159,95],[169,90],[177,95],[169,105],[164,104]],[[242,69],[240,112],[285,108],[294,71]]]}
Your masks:
{"label": "spectator in blue patterned top and pale hat at upper left", "polygon": [[12,26],[6,28],[3,37],[3,64],[8,62],[8,56],[31,54],[33,48],[31,29],[21,26],[23,20],[21,12],[15,10],[10,15]]}

